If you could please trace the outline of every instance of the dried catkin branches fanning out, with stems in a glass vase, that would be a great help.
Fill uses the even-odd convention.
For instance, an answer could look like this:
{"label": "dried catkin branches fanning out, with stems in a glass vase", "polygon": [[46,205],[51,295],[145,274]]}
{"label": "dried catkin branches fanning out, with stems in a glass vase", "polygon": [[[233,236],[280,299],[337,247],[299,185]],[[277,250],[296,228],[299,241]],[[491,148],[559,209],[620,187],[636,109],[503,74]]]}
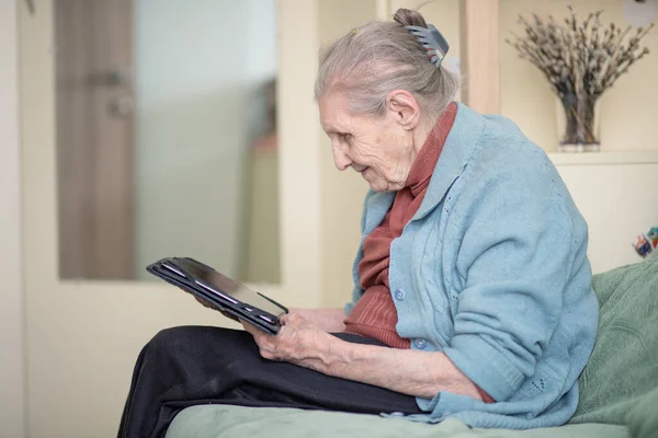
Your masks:
{"label": "dried catkin branches fanning out, with stems in a glass vase", "polygon": [[574,8],[558,23],[552,15],[529,21],[519,15],[525,34],[506,39],[522,59],[535,65],[546,77],[565,107],[567,131],[563,143],[595,143],[594,104],[631,66],[649,53],[640,41],[654,27],[622,28],[603,25],[602,11],[578,21]]}

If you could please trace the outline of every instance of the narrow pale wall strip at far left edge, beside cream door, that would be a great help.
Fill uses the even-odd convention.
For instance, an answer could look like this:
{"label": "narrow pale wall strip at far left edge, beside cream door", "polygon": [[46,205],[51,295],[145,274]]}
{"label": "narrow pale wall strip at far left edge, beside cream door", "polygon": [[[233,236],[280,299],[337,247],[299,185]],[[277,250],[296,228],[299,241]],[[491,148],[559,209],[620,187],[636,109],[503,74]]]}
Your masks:
{"label": "narrow pale wall strip at far left edge, beside cream door", "polygon": [[0,437],[24,436],[16,4],[0,2]]}

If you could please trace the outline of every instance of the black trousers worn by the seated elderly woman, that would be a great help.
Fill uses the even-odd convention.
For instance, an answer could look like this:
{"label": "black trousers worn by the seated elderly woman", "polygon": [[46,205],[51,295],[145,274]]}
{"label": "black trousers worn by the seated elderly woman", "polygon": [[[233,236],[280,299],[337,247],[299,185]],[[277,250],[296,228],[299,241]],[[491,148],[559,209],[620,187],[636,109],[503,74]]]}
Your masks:
{"label": "black trousers worn by the seated elderly woman", "polygon": [[[345,333],[336,336],[382,345]],[[180,411],[198,404],[421,413],[410,395],[263,359],[247,332],[183,326],[158,333],[139,354],[118,437],[162,438]]]}

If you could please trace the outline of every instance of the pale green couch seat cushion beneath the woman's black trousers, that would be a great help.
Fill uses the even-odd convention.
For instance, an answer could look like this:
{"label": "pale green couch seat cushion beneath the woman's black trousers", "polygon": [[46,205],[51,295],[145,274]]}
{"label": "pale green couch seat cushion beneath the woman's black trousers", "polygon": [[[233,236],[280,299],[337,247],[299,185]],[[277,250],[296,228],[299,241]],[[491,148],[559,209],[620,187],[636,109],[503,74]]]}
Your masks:
{"label": "pale green couch seat cushion beneath the woman's black trousers", "polygon": [[470,429],[455,418],[431,425],[376,415],[287,407],[204,405],[175,416],[166,438],[628,438],[625,426],[580,424],[531,430]]}

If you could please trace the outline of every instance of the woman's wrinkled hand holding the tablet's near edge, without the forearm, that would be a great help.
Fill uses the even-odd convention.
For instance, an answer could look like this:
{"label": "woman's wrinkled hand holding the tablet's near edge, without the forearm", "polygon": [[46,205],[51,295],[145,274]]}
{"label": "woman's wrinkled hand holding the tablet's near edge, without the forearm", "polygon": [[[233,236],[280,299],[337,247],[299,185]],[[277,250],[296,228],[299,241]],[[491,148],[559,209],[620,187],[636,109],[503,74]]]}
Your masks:
{"label": "woman's wrinkled hand holding the tablet's near edge, without the forearm", "polygon": [[279,334],[270,335],[241,321],[265,359],[286,361],[321,371],[321,359],[330,353],[331,343],[338,338],[296,313],[281,316],[280,322],[282,326]]}

